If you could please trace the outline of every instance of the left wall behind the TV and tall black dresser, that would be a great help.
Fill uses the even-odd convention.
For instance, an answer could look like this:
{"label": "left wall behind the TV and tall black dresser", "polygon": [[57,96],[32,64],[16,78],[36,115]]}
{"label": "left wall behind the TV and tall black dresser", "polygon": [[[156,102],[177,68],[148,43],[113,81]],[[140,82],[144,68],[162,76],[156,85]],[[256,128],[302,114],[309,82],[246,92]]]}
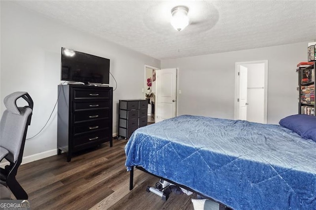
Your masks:
{"label": "left wall behind the TV and tall black dresser", "polygon": [[[34,100],[28,138],[40,131],[57,100],[61,47],[111,60],[110,71],[118,81],[113,93],[113,129],[117,132],[118,100],[143,99],[144,65],[160,61],[96,36],[67,27],[14,2],[1,1],[0,101],[14,91],[27,91]],[[110,86],[115,82],[110,76]],[[1,113],[3,107],[1,106]],[[26,142],[24,156],[57,151],[57,110],[42,133]]]}

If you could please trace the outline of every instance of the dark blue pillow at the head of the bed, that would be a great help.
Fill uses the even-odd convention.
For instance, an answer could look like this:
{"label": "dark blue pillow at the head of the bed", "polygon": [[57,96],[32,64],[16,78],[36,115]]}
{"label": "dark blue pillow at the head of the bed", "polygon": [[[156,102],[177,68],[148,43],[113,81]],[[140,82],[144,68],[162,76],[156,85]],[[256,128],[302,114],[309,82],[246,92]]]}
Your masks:
{"label": "dark blue pillow at the head of the bed", "polygon": [[316,141],[316,116],[306,114],[290,115],[281,119],[279,124],[294,131],[304,139]]}

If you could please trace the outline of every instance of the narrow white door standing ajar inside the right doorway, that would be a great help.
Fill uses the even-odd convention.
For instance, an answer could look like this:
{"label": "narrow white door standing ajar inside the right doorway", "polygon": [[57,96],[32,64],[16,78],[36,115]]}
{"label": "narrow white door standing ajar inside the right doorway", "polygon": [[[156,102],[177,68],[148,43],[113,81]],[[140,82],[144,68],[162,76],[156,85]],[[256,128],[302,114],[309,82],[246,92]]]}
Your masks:
{"label": "narrow white door standing ajar inside the right doorway", "polygon": [[239,69],[239,120],[247,120],[247,68]]}

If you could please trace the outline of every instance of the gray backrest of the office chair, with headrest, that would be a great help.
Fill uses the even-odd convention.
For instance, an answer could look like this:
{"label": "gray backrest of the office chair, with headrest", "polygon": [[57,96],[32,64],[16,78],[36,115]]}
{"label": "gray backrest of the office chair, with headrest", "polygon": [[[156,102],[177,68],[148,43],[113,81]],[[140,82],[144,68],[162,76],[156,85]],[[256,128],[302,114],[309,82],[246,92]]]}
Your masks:
{"label": "gray backrest of the office chair, with headrest", "polygon": [[[28,106],[18,107],[16,101],[23,98]],[[0,121],[0,146],[7,149],[9,162],[22,160],[27,127],[31,123],[33,100],[27,92],[14,92],[4,98],[4,110]],[[20,158],[19,158],[20,157]]]}

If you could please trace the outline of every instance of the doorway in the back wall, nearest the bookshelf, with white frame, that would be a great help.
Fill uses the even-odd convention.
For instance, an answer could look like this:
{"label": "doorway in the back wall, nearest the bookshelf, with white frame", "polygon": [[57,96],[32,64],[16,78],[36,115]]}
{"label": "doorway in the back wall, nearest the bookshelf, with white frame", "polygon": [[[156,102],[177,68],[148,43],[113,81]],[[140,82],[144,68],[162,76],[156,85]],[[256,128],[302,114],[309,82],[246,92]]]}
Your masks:
{"label": "doorway in the back wall, nearest the bookshelf, with white frame", "polygon": [[267,123],[268,61],[235,65],[235,119]]}

